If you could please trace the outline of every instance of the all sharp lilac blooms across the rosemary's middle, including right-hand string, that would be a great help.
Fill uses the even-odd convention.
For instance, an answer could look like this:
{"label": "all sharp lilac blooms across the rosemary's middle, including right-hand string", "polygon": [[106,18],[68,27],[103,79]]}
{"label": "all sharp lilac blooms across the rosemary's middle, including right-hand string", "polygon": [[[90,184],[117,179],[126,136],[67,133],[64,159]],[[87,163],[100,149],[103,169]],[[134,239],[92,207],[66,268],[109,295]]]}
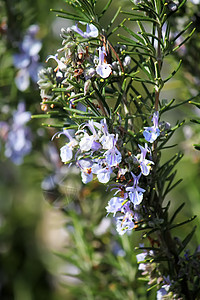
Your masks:
{"label": "all sharp lilac blooms across the rosemary's middle, including right-hand string", "polygon": [[[149,143],[153,143],[160,135],[158,117],[158,112],[155,112],[152,118],[153,126],[144,128],[143,135]],[[139,180],[142,175],[149,175],[151,165],[154,164],[153,161],[146,158],[147,153],[150,153],[150,148],[147,144],[145,147],[138,145],[141,153],[133,157],[133,165],[139,166],[140,174],[135,175],[130,168],[124,168],[124,164],[121,167],[123,158],[118,149],[119,137],[118,134],[109,133],[105,119],[100,123],[93,120],[88,121],[75,133],[75,137],[72,137],[67,130],[56,135],[60,136],[61,134],[64,134],[69,140],[60,149],[61,160],[63,163],[76,162],[81,171],[83,183],[92,181],[93,175],[96,175],[99,182],[105,184],[111,179],[130,173],[132,179],[128,183],[116,185],[117,192],[108,202],[106,210],[108,213],[113,213],[113,216],[121,213],[120,216],[117,216],[119,234],[132,230],[135,227],[135,221],[139,219],[137,210],[145,192],[145,189],[139,186]],[[118,193],[120,196],[117,195]]]}

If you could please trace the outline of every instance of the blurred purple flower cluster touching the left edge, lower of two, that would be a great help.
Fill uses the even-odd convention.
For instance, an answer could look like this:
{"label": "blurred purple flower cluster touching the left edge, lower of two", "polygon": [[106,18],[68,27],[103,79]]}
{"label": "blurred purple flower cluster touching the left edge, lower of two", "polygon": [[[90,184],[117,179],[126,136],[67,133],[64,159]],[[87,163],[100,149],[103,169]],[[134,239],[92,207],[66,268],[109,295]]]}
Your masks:
{"label": "blurred purple flower cluster touching the left edge, lower of two", "polygon": [[5,156],[19,165],[24,156],[32,149],[31,131],[26,123],[31,119],[31,113],[25,110],[25,104],[20,102],[13,112],[11,122],[0,122],[0,137],[5,143]]}

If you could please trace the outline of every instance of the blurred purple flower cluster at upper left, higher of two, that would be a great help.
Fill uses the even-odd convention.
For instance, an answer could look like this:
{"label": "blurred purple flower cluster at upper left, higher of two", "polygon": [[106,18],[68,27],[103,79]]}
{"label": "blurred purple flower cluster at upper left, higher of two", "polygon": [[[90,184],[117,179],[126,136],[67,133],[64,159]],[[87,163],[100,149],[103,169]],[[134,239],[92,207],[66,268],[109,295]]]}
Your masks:
{"label": "blurred purple flower cluster at upper left, higher of two", "polygon": [[39,26],[31,25],[20,45],[20,53],[13,55],[13,64],[19,69],[17,72],[15,83],[20,91],[25,91],[30,84],[30,78],[37,82],[38,72],[41,68],[39,61],[39,51],[42,43],[35,36],[39,30]]}

